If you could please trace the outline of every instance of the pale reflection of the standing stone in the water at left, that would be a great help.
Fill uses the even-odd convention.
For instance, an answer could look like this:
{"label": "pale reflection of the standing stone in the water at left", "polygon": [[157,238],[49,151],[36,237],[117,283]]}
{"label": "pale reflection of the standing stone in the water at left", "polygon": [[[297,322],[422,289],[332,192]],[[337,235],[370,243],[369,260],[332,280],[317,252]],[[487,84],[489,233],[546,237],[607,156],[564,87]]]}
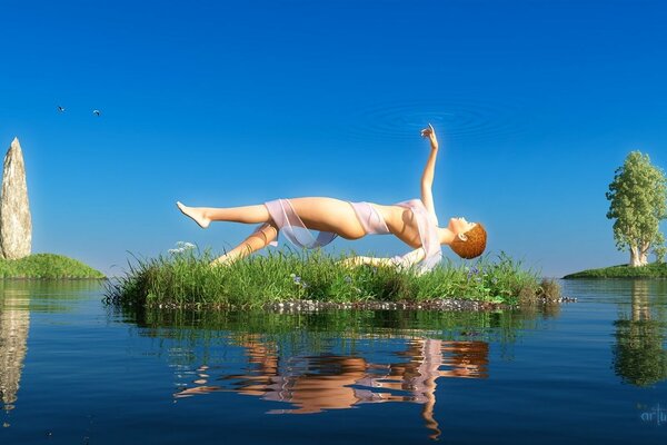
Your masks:
{"label": "pale reflection of the standing stone in the water at left", "polygon": [[29,326],[28,293],[0,285],[0,402],[6,412],[17,400]]}

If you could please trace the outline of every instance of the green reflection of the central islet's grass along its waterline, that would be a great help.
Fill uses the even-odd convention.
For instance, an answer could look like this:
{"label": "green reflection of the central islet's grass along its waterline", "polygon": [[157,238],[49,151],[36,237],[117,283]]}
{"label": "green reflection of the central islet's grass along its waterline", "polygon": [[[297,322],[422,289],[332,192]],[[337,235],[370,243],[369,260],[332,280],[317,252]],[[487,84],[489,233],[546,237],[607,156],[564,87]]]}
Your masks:
{"label": "green reflection of the central islet's grass along its waterline", "polygon": [[[497,342],[502,356],[524,332],[535,330],[546,312],[321,310],[280,314],[266,310],[166,310],[112,307],[126,320],[136,320],[143,336],[172,339],[192,354],[215,354],[229,339],[242,344],[260,338],[293,350],[326,352],[332,342],[354,346],[359,340],[437,338]],[[160,343],[162,345],[162,343]],[[171,347],[172,345],[166,347]],[[206,360],[205,360],[206,362]]]}

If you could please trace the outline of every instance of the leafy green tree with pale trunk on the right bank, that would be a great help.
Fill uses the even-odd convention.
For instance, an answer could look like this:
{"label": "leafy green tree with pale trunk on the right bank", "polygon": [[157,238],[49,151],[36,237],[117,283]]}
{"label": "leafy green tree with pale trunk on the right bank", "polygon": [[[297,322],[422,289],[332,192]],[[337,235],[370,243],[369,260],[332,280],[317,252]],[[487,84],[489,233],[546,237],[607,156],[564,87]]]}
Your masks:
{"label": "leafy green tree with pale trunk on the right bank", "polygon": [[661,245],[660,220],[667,218],[667,178],[648,155],[633,151],[616,169],[606,194],[618,250],[630,250],[630,266],[644,266],[651,245]]}

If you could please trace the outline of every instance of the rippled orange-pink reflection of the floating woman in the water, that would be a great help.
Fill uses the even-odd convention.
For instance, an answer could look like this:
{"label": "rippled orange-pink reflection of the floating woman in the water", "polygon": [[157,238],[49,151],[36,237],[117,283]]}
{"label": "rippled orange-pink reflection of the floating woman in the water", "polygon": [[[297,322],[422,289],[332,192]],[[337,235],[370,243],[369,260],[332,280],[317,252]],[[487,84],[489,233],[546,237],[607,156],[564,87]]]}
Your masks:
{"label": "rippled orange-pink reflection of the floating woman in the water", "polygon": [[[275,414],[310,414],[326,409],[386,402],[424,405],[421,416],[432,438],[440,435],[434,417],[438,377],[486,378],[488,344],[411,338],[396,353],[397,360],[371,363],[360,356],[322,354],[280,357],[272,342],[250,335],[242,339],[248,360],[246,374],[222,375],[226,386],[209,386],[208,372],[198,369],[197,386],[183,388],[176,397],[218,390],[233,390],[266,400],[287,402],[295,408]],[[281,363],[285,365],[281,366]]]}

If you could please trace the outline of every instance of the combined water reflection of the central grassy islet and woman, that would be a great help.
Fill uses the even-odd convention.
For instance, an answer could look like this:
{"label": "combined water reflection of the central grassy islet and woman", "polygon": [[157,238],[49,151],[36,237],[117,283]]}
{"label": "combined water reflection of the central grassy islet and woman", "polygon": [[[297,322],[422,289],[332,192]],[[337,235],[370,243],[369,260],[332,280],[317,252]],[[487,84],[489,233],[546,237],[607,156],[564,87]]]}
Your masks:
{"label": "combined water reflection of the central grassy islet and woman", "polygon": [[419,405],[431,438],[444,378],[489,377],[490,344],[511,356],[552,308],[496,313],[341,310],[122,314],[157,338],[175,369],[177,399],[235,393],[289,404],[270,414],[313,414],[365,404]]}

